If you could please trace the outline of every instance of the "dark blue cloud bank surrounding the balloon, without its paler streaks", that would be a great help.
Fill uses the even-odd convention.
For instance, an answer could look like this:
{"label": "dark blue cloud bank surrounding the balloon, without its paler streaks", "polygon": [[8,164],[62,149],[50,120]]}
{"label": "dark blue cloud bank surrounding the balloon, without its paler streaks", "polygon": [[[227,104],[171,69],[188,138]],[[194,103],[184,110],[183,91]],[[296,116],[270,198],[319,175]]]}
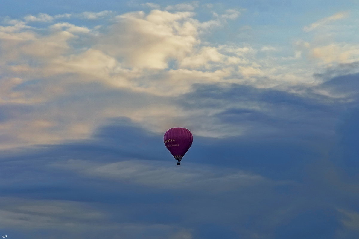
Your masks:
{"label": "dark blue cloud bank surrounding the balloon, without its paler streaks", "polygon": [[[355,92],[353,89],[359,86],[356,75],[335,77],[322,87]],[[341,85],[345,79],[348,86]],[[51,235],[56,239],[171,238],[183,228],[193,238],[339,238],[338,231],[355,238],[357,230],[343,220],[354,215],[349,226],[355,225],[358,212],[359,110],[352,107],[358,102],[352,97],[350,107],[344,101],[328,104],[325,97],[312,99],[315,95],[310,91],[307,94],[305,97],[240,85],[196,85],[193,93],[180,99],[178,104],[185,109],[223,109],[215,115],[221,123],[254,126],[236,137],[195,136],[183,158],[184,170],[210,166],[218,171],[247,171],[261,176],[258,183],[230,190],[151,187],[131,181],[136,178],[91,175],[91,165],[98,169],[122,161],[177,167],[164,147],[163,134],[152,133],[127,118],[109,120],[88,140],[8,150],[0,158],[1,196],[82,202],[106,212],[107,217],[91,224],[93,229],[84,226],[78,231],[66,226],[4,229],[19,237]],[[246,107],[251,102],[264,107]],[[266,131],[268,128],[271,130]],[[83,162],[89,167],[81,169]],[[61,164],[64,167],[53,167]],[[70,168],[74,166],[76,170]],[[137,175],[141,174],[146,172]],[[229,182],[235,181],[232,175],[228,177]],[[216,185],[213,181],[209,184]],[[220,185],[224,186],[228,185]],[[342,209],[349,212],[345,214]],[[4,210],[10,209],[5,205]],[[21,221],[23,217],[17,218],[16,210],[10,215]],[[126,225],[121,228],[121,223]]]}

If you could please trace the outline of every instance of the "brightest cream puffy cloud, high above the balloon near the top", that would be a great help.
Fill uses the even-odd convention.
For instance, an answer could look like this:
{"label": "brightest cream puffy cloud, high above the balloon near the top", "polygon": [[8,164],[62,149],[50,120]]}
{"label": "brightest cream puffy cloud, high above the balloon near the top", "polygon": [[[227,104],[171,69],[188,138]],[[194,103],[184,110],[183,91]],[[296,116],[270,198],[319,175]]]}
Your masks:
{"label": "brightest cream puffy cloud, high above the balloon near the top", "polygon": [[117,16],[119,23],[112,26],[111,35],[102,38],[99,49],[122,57],[129,67],[165,69],[171,58],[184,57],[199,43],[192,15],[152,10],[148,16],[143,12]]}

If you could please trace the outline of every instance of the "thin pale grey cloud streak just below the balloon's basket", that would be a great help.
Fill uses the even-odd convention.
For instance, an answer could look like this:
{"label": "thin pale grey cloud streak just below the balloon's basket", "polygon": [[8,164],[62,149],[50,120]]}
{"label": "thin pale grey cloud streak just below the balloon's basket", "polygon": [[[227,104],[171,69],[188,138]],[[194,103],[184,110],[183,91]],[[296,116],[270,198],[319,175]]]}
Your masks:
{"label": "thin pale grey cloud streak just below the balloon's basket", "polygon": [[[191,163],[188,163],[191,164]],[[131,160],[111,164],[88,164],[82,160],[69,160],[53,167],[78,171],[89,177],[109,178],[122,183],[139,184],[155,188],[184,190],[230,191],[238,187],[248,187],[257,183],[269,183],[265,178],[246,172],[216,172],[215,167],[178,168],[163,165],[160,161]],[[195,169],[197,168],[197,169]],[[176,178],[176,180],[173,180]],[[218,187],[220,185],[220,187]]]}

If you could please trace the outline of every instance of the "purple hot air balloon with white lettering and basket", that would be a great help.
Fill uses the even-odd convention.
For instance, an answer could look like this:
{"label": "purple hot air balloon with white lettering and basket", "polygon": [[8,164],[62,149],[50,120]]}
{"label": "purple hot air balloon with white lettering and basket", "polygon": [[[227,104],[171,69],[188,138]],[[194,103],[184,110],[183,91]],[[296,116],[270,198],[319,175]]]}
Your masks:
{"label": "purple hot air balloon with white lettering and basket", "polygon": [[172,128],[164,134],[163,142],[168,151],[178,160],[177,165],[181,165],[182,157],[192,145],[193,136],[188,129]]}

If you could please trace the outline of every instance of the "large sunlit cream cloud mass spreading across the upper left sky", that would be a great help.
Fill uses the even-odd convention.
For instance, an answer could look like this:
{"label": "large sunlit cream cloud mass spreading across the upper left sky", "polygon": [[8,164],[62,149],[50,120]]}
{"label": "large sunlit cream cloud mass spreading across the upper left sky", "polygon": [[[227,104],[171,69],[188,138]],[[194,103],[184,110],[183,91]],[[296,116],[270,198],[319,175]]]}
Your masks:
{"label": "large sunlit cream cloud mass spreading across the upper left sky", "polygon": [[[111,14],[95,13],[98,17]],[[200,22],[187,11],[139,11],[116,16],[112,26],[97,28],[109,29],[101,33],[56,22],[86,15],[92,18],[91,14],[57,15],[41,30],[8,19],[15,25],[0,26],[0,63],[4,66],[0,69],[0,102],[29,110],[19,113],[9,108],[8,114],[17,113],[12,120],[0,122],[4,135],[1,147],[89,138],[112,117],[128,117],[157,133],[187,124],[195,125],[194,133],[205,137],[241,135],[244,128],[233,129],[216,119],[225,108],[184,110],[172,99],[201,83],[281,89],[314,83],[307,69],[306,73],[293,73],[293,68],[279,66],[274,58],[258,58],[258,51],[273,50],[269,46],[202,42],[201,32],[210,32],[238,14],[227,10],[222,16]],[[351,53],[355,50],[348,49]],[[345,54],[342,58],[354,59],[345,58]],[[67,99],[76,101],[62,103]],[[168,116],[168,111],[180,112],[181,117]],[[202,125],[193,119],[201,119]]]}

